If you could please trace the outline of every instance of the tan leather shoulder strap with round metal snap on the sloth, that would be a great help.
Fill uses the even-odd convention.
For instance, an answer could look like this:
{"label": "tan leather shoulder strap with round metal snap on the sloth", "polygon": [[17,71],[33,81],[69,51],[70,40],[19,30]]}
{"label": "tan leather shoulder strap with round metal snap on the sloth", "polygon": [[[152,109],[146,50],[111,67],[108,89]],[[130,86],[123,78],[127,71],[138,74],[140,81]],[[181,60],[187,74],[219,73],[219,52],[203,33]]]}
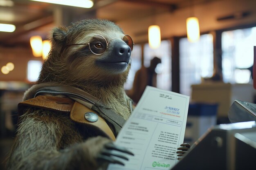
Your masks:
{"label": "tan leather shoulder strap with round metal snap on the sloth", "polygon": [[[61,111],[70,113],[70,118],[78,123],[95,126],[98,130],[104,132],[110,139],[115,141],[115,135],[103,119],[97,112],[87,108],[86,106],[75,102],[68,97],[54,97],[54,96],[43,96],[38,95],[35,98],[25,100],[18,104],[18,114],[21,116],[24,109],[27,107],[43,108],[47,110]],[[85,113],[93,112],[98,115],[99,119],[95,122],[87,121],[84,117]]]}

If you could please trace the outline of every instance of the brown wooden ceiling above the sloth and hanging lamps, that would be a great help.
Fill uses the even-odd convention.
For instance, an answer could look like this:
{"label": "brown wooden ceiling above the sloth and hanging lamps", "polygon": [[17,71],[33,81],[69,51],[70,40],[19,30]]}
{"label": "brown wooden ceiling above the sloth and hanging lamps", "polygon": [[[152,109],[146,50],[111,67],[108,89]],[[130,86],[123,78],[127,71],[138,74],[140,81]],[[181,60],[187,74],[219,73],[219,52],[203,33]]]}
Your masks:
{"label": "brown wooden ceiling above the sloth and hanging lamps", "polygon": [[[54,4],[30,0],[13,0],[14,7],[0,7],[0,23],[16,25],[13,33],[0,32],[0,46],[20,46],[29,44],[32,35],[47,36],[54,26]],[[76,15],[96,11],[98,18],[112,20],[120,24],[130,35],[140,36],[139,41],[147,41],[149,24],[161,26],[164,37],[185,34],[185,20],[194,11],[203,31],[235,24],[255,23],[256,0],[94,0],[92,9],[72,8]],[[68,8],[67,8],[68,9]],[[239,11],[249,11],[243,20],[217,21],[218,17],[232,15]],[[71,13],[72,14],[72,13]],[[84,15],[84,16],[85,16]],[[227,23],[227,24],[225,24]],[[230,24],[229,24],[230,23]],[[233,24],[233,25],[235,25]]]}

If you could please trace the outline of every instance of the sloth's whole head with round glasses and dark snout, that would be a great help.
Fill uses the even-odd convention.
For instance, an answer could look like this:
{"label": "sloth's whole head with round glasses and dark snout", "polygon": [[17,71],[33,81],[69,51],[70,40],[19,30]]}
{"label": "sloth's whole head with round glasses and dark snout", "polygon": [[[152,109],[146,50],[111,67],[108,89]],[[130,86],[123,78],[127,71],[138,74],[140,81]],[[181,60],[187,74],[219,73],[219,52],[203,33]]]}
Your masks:
{"label": "sloth's whole head with round glasses and dark snout", "polygon": [[74,77],[128,75],[132,39],[110,21],[84,20],[67,30],[55,30],[53,39],[64,40],[59,51]]}

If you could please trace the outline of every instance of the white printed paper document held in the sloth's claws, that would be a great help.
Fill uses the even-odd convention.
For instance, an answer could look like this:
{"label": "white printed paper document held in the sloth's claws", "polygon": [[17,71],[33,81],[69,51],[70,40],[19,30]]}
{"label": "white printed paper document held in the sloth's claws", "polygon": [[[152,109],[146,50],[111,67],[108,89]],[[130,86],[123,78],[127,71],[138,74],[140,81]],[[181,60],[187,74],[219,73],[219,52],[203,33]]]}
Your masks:
{"label": "white printed paper document held in the sloth's claws", "polygon": [[177,163],[183,143],[189,96],[147,86],[139,103],[119,132],[115,143],[135,156],[125,166],[108,170],[169,170]]}

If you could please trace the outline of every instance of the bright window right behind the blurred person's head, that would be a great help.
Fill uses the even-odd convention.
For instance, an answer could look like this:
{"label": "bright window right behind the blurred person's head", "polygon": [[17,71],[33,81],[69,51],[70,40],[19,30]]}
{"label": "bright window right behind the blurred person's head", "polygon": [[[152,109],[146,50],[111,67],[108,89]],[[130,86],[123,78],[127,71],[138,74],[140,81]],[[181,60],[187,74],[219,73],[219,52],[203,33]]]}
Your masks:
{"label": "bright window right behind the blurred person's head", "polygon": [[155,71],[157,74],[157,88],[171,90],[171,42],[169,40],[161,41],[157,49],[150,49],[148,44],[144,46],[144,66],[150,65],[153,57],[159,57],[161,64],[157,65]]}

